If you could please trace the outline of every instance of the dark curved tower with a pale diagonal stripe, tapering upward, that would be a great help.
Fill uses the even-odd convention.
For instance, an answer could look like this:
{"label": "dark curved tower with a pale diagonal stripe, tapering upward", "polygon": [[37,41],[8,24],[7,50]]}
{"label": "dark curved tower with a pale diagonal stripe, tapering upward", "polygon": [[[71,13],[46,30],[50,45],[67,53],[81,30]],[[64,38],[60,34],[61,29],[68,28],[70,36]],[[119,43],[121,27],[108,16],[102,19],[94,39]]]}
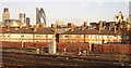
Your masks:
{"label": "dark curved tower with a pale diagonal stripe, tapering upward", "polygon": [[36,8],[36,23],[46,24],[46,14],[43,8],[40,10]]}

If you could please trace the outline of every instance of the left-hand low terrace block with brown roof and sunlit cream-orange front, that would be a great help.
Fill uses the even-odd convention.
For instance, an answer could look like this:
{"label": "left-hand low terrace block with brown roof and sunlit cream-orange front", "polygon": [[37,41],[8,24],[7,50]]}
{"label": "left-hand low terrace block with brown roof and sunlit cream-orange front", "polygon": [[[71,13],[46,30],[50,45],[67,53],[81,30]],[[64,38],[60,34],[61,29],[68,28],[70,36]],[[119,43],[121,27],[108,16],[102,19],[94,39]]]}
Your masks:
{"label": "left-hand low terrace block with brown roof and sunlit cream-orange front", "polygon": [[56,40],[56,36],[51,28],[39,27],[33,29],[31,27],[12,27],[1,28],[1,41],[16,41],[16,42],[50,42]]}

